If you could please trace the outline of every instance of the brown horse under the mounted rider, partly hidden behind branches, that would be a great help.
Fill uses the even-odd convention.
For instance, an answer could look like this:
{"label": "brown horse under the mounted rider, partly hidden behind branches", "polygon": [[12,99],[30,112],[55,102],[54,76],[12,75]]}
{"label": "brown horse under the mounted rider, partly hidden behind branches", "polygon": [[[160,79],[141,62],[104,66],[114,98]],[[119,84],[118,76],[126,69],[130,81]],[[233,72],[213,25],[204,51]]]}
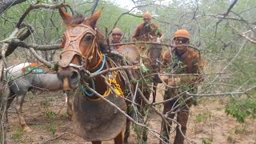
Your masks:
{"label": "brown horse under the mounted rider, partly hidden behind branches", "polygon": [[[154,42],[156,42],[158,39],[154,38]],[[158,67],[158,61],[161,61],[161,53],[162,53],[162,47],[160,45],[149,45],[148,49],[146,50],[139,50],[137,46],[134,45],[124,45],[121,46],[118,49],[118,52],[123,54],[126,59],[131,62],[133,65],[144,65],[146,66],[146,69],[149,70],[149,73],[156,73],[159,71]],[[141,73],[139,73],[136,70],[132,70],[133,76],[136,79],[142,78]],[[156,89],[158,86],[158,81],[156,80],[156,76],[152,78],[153,80],[153,102],[155,102],[156,97]],[[134,86],[133,84],[131,84]],[[142,90],[143,95],[146,97],[147,100],[150,99],[151,90],[150,87],[147,86],[146,83],[140,83],[139,85],[140,89]],[[142,101],[142,98],[139,96],[140,94],[137,94],[137,98],[135,98],[135,102],[139,105],[138,110],[142,113],[142,116],[145,116],[146,113],[146,102]],[[130,103],[127,102],[127,105],[130,106]],[[127,114],[131,116],[131,110],[128,110]],[[128,142],[128,138],[130,136],[130,120],[126,119],[126,133],[125,133],[125,140],[124,142]],[[142,129],[142,133],[138,134],[139,139],[141,139],[143,142],[147,141],[147,131],[145,129]]]}

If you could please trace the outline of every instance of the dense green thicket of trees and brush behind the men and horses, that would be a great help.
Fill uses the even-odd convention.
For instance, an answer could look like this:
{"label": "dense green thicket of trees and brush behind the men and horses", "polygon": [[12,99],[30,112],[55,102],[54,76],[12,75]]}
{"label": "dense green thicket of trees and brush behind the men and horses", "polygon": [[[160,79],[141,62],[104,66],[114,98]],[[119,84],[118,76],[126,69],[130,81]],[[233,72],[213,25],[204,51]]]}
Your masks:
{"label": "dense green thicket of trees and brush behind the men and horses", "polygon": [[[6,39],[14,31],[19,18],[35,1],[22,2],[11,6],[1,14],[0,40]],[[59,1],[44,0],[53,5]],[[154,22],[165,33],[164,42],[170,43],[172,34],[178,29],[187,29],[192,34],[192,43],[201,50],[206,60],[206,80],[198,94],[223,94],[230,96],[226,113],[243,122],[247,116],[256,114],[256,2],[254,0],[173,0],[139,1],[136,8],[128,10],[110,1],[99,1],[96,10],[103,7],[98,25],[105,32],[118,26],[125,33],[125,42],[130,42],[136,26],[142,22],[142,14],[150,12]],[[67,0],[70,7],[90,16],[94,1]],[[231,7],[232,3],[234,6]],[[34,33],[26,38],[27,43],[58,44],[62,42],[65,26],[62,25],[58,10],[33,10],[24,22],[33,27]],[[55,51],[41,52],[42,57],[51,61]],[[26,55],[26,57],[24,56]],[[34,59],[26,50],[15,50],[14,56],[7,58],[9,64]],[[240,94],[238,92],[246,92]]]}

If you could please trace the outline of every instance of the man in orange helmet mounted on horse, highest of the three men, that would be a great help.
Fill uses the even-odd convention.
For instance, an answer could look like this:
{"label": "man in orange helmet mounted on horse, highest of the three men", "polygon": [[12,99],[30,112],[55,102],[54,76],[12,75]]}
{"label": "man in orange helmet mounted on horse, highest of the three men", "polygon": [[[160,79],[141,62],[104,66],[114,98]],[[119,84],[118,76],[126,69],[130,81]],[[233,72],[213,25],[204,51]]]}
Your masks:
{"label": "man in orange helmet mounted on horse, highest of the three men", "polygon": [[140,24],[134,32],[132,40],[136,41],[150,41],[150,35],[152,37],[161,37],[162,32],[158,28],[158,26],[151,22],[152,15],[150,13],[143,14],[144,23]]}

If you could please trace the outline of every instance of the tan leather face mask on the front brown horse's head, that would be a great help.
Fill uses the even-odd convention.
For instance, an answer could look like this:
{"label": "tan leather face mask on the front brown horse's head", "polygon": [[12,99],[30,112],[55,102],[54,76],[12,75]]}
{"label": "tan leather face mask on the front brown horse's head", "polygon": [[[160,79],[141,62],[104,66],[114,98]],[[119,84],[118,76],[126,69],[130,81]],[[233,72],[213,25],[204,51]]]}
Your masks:
{"label": "tan leather face mask on the front brown horse's head", "polygon": [[[92,34],[94,36],[92,45],[90,46],[90,49],[88,50],[88,53],[86,54],[86,56],[84,56],[81,50],[79,49],[80,42],[82,41],[82,38],[85,34]],[[96,45],[95,43],[96,29],[94,30],[90,26],[86,26],[84,23],[81,23],[75,26],[68,26],[65,32],[65,38],[66,38],[66,42],[65,42],[63,51],[61,53],[62,59],[60,62],[60,66],[62,67],[72,66],[79,70],[85,69],[87,61],[93,58],[93,56],[91,56],[90,54],[94,52],[95,45]],[[71,63],[72,59],[74,58],[74,55],[76,54],[78,54],[78,56],[81,58],[80,65]],[[100,62],[101,61],[99,61],[98,63]]]}

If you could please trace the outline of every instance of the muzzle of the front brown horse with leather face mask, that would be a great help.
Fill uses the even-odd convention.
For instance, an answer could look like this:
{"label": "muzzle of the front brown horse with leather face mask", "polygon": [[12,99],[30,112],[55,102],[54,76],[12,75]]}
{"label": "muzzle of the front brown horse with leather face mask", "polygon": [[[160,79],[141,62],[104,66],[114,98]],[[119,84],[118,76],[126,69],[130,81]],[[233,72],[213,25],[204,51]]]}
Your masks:
{"label": "muzzle of the front brown horse with leather face mask", "polygon": [[73,67],[66,67],[58,71],[58,78],[63,82],[63,90],[72,90],[78,87],[81,74]]}

